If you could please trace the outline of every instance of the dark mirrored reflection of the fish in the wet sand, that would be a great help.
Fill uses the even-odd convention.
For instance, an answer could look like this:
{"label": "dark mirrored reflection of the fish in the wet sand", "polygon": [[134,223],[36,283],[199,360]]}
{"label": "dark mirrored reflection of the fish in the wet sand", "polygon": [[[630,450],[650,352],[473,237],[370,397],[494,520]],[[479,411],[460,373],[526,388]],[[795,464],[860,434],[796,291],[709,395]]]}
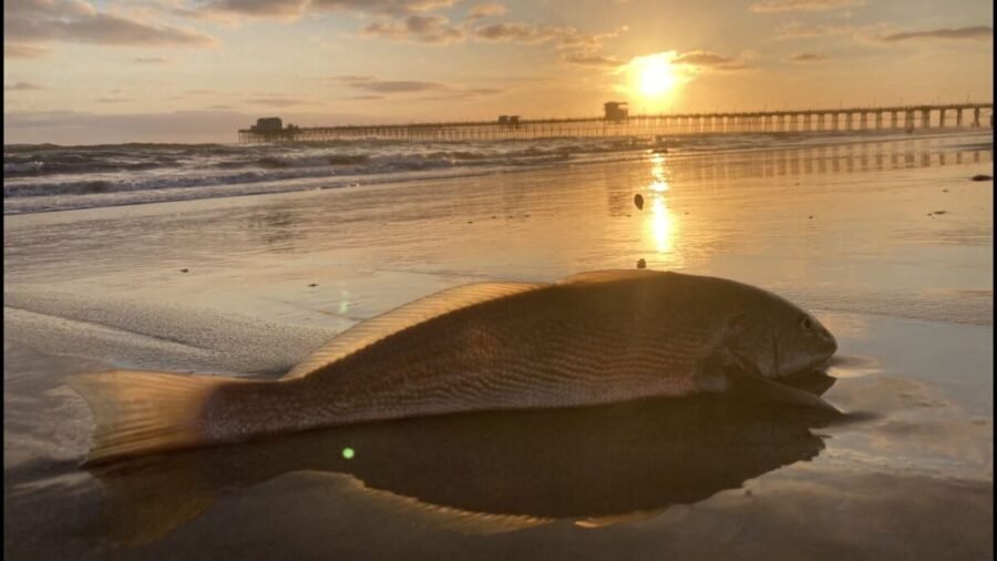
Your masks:
{"label": "dark mirrored reflection of the fish in the wet sand", "polygon": [[[833,378],[801,381],[820,392]],[[92,532],[107,544],[152,542],[223,492],[294,472],[327,478],[337,504],[360,501],[440,530],[607,526],[810,460],[824,448],[811,429],[831,420],[822,409],[700,395],[404,419],[145,456],[91,468],[106,494]]]}

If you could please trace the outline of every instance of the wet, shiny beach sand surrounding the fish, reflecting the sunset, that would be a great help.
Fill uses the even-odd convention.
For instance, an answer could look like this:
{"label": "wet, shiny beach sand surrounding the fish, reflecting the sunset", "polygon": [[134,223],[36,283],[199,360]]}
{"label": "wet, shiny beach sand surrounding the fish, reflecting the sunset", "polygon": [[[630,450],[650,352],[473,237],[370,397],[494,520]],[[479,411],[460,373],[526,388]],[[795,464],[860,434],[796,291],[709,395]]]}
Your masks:
{"label": "wet, shiny beach sand surrounding the fish, reflecting the sunset", "polygon": [[[989,559],[991,139],[7,216],[6,555]],[[73,373],[276,377],[449,286],[640,258],[813,310],[853,420],[631,404],[78,468]]]}

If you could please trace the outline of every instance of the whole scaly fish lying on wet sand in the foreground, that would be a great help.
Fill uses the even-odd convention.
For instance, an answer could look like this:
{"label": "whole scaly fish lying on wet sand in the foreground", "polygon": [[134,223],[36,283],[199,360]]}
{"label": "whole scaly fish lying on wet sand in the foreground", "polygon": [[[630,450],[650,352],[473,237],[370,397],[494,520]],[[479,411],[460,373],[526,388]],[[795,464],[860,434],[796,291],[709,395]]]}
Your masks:
{"label": "whole scaly fish lying on wet sand in the foreground", "polygon": [[780,378],[836,351],[811,314],[736,280],[599,271],[476,283],[359,324],[278,380],[111,370],[68,379],[86,462],[322,427],[703,392],[829,410]]}

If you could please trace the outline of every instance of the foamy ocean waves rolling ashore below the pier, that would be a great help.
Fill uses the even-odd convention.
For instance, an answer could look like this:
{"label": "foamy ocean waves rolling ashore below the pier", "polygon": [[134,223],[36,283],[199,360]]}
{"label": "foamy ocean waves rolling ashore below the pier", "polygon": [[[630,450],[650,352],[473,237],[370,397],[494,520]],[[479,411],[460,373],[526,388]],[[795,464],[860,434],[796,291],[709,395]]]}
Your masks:
{"label": "foamy ocean waves rolling ashore below the pier", "polygon": [[[649,154],[667,153],[672,162],[679,162],[703,153],[814,147],[871,140],[875,139],[868,134],[740,134],[426,143],[368,140],[291,144],[4,145],[4,212],[212,197],[220,192],[256,194],[409,177],[477,175],[530,166],[623,161]],[[145,192],[157,194],[143,195]]]}

